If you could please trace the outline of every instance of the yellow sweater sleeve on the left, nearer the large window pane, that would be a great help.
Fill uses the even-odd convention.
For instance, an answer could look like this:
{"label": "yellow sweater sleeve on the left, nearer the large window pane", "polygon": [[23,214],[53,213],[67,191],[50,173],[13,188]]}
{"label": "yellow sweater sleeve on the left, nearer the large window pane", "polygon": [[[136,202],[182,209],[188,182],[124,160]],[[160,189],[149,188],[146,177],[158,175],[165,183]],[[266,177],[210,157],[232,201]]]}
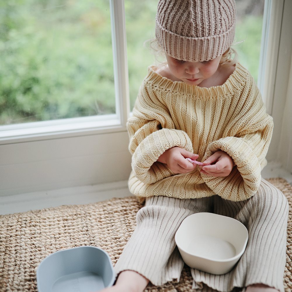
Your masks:
{"label": "yellow sweater sleeve on the left, nearer the large window pane", "polygon": [[181,147],[193,152],[192,142],[185,131],[176,129],[165,105],[142,84],[128,120],[129,150],[135,177],[146,184],[155,183],[174,173],[163,163],[157,162],[167,149]]}

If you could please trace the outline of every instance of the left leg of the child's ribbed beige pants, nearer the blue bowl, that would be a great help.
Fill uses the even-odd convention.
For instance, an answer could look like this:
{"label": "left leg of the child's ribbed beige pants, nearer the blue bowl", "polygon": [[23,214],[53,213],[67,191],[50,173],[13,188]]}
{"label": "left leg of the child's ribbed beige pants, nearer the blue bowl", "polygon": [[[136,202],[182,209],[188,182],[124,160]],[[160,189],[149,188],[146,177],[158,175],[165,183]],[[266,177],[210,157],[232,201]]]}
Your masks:
{"label": "left leg of the child's ribbed beige pants, nearer the blue bowl", "polygon": [[145,207],[137,213],[137,226],[114,269],[118,274],[134,270],[160,286],[177,279],[183,260],[175,245],[175,232],[187,216],[210,212],[213,197],[176,199],[153,196],[146,198]]}

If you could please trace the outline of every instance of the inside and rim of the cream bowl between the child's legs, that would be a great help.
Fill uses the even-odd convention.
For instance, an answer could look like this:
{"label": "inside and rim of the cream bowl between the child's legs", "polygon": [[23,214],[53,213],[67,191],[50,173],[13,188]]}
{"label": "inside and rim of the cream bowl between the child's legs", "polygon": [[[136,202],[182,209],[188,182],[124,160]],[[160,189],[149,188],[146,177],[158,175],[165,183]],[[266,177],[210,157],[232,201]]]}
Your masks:
{"label": "inside and rim of the cream bowl between the child's legs", "polygon": [[247,240],[248,232],[241,222],[213,213],[188,216],[175,234],[180,250],[216,261],[227,261],[241,255]]}

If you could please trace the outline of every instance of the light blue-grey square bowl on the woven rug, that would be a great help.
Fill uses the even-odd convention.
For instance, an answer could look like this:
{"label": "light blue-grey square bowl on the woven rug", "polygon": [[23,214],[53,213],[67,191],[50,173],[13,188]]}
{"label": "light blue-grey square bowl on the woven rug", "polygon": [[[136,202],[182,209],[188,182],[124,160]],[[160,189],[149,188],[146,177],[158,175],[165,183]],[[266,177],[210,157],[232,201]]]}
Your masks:
{"label": "light blue-grey square bowl on the woven rug", "polygon": [[36,271],[39,292],[100,291],[114,284],[109,255],[95,246],[79,246],[47,256]]}

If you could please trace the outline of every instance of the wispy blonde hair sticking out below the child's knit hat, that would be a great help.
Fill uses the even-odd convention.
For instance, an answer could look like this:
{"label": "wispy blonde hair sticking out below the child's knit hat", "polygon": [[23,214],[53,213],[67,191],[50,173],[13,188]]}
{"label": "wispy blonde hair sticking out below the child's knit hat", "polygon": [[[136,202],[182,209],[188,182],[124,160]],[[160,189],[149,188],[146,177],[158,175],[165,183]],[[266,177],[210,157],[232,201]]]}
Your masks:
{"label": "wispy blonde hair sticking out below the child's knit hat", "polygon": [[[144,46],[148,48],[155,56],[155,60],[159,63],[166,63],[166,60],[161,61],[159,58],[165,57],[165,51],[157,41],[157,39],[149,39],[144,42]],[[231,46],[223,53],[220,65],[221,66],[233,66],[238,59],[237,52]]]}

